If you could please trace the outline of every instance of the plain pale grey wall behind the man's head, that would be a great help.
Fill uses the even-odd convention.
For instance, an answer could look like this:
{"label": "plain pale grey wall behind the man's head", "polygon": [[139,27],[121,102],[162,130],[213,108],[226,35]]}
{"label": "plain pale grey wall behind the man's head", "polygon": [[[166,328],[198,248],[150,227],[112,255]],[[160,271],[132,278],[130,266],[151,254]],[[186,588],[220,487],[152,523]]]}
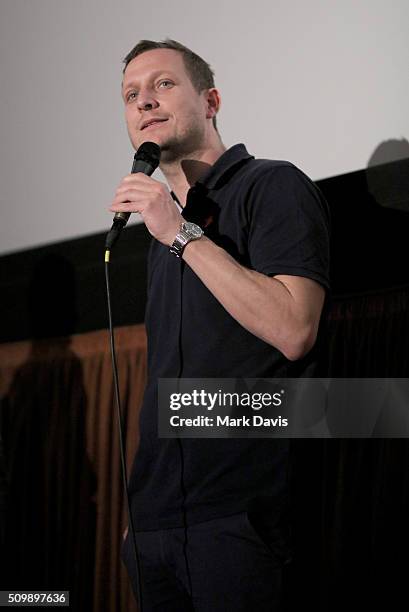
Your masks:
{"label": "plain pale grey wall behind the man's head", "polygon": [[141,38],[174,38],[211,64],[226,146],[313,179],[365,167],[391,139],[403,141],[388,158],[409,156],[407,0],[0,0],[0,11],[1,253],[110,226],[133,156],[121,62]]}

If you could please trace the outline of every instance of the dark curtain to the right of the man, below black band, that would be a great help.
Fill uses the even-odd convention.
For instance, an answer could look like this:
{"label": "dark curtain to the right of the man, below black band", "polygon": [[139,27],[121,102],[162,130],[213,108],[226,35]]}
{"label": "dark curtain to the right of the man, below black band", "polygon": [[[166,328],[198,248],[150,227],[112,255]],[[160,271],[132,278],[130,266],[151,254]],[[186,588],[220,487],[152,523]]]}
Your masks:
{"label": "dark curtain to the right of the man, below black band", "polygon": [[[409,287],[334,298],[327,331],[325,376],[408,377]],[[408,481],[407,439],[292,440],[287,610],[400,609]]]}

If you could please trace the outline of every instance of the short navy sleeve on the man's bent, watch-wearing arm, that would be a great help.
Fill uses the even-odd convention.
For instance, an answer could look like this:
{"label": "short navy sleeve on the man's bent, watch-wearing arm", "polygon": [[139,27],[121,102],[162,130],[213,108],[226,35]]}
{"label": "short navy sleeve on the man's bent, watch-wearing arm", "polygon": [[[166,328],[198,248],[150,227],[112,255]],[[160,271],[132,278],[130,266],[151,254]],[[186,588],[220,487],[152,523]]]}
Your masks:
{"label": "short navy sleeve on the man's bent, watch-wearing arm", "polygon": [[329,282],[328,204],[318,187],[291,164],[263,174],[249,199],[249,256],[254,270]]}

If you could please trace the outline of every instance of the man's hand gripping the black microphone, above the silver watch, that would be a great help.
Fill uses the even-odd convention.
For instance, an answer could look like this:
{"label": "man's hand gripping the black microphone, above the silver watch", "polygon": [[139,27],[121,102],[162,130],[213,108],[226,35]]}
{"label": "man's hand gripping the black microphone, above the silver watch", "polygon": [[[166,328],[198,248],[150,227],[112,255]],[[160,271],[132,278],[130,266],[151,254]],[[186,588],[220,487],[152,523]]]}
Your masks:
{"label": "man's hand gripping the black microphone, above the silver watch", "polygon": [[183,222],[167,186],[141,172],[122,179],[109,210],[140,213],[150,234],[168,246]]}

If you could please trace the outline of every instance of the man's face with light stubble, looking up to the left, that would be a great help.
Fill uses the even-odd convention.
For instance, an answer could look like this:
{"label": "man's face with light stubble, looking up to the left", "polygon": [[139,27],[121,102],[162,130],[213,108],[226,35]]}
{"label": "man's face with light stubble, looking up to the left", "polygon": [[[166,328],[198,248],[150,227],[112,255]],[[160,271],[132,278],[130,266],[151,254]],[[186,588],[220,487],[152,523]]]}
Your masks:
{"label": "man's face with light stubble, looking up to the left", "polygon": [[[126,67],[122,96],[135,150],[143,142],[156,142],[162,161],[169,162],[204,146],[206,92],[194,89],[178,51],[153,49],[135,57]],[[164,121],[144,127],[155,118]]]}

